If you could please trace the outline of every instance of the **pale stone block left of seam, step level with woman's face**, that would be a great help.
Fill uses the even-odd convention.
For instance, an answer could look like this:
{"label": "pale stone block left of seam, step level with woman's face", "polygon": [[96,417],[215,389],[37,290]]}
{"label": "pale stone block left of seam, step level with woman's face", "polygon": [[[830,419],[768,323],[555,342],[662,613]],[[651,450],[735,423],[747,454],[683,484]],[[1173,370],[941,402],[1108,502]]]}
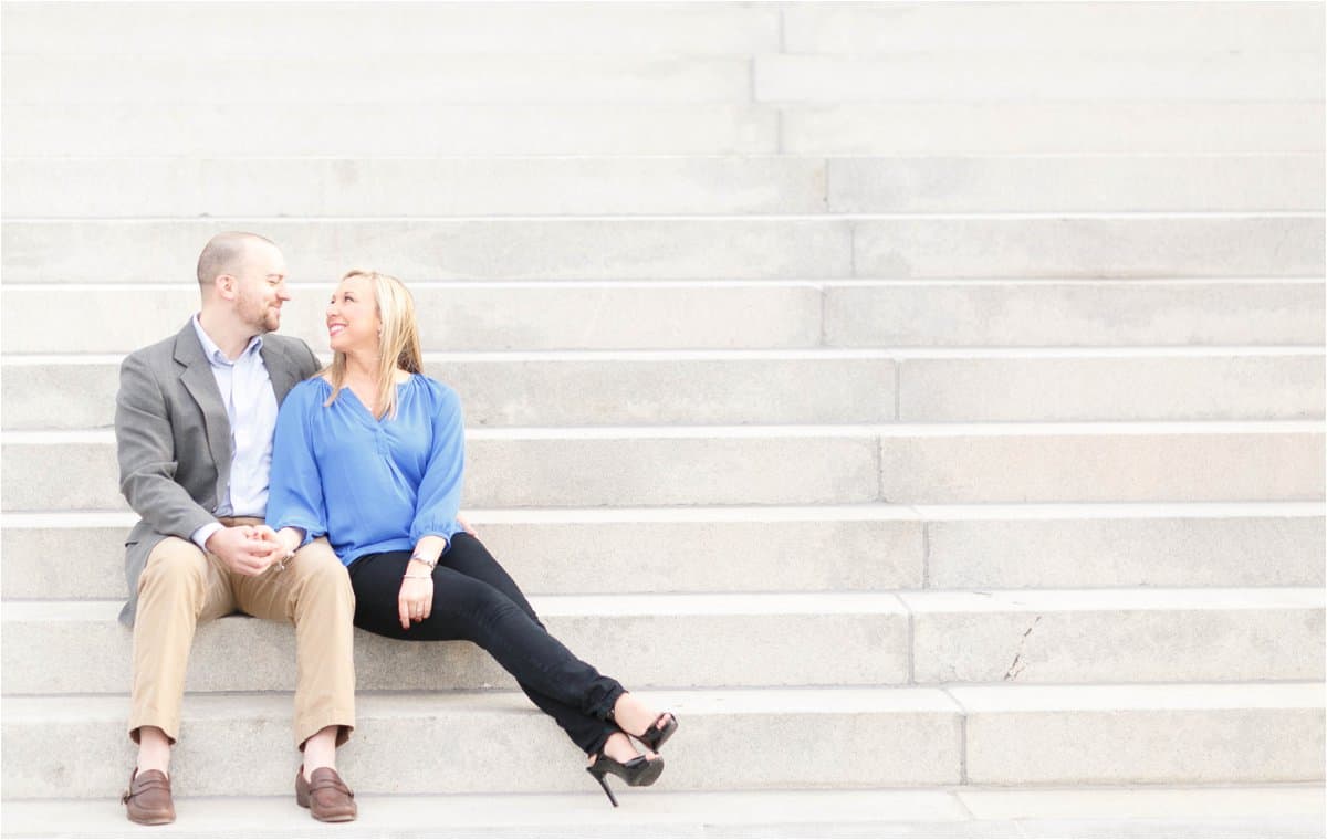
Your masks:
{"label": "pale stone block left of seam, step level with woman's face", "polygon": [[[324,346],[332,288],[332,281],[293,284],[283,332]],[[772,281],[410,288],[426,350],[808,348],[820,344],[824,296],[811,283]],[[1315,292],[1306,287],[1296,300]],[[198,309],[198,285],[5,284],[0,304],[4,353],[127,353],[179,332]],[[134,317],[102,317],[118,311]]]}

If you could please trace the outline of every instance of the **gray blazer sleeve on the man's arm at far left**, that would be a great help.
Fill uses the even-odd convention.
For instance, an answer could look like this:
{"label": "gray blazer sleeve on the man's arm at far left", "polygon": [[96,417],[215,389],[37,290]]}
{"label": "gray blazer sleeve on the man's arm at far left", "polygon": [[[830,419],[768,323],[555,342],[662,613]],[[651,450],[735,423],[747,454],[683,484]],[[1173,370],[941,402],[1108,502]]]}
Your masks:
{"label": "gray blazer sleeve on the man's arm at far left", "polygon": [[170,411],[149,360],[130,354],[119,366],[115,394],[115,455],[119,492],[153,531],[190,539],[208,523],[211,511],[175,480],[179,462]]}

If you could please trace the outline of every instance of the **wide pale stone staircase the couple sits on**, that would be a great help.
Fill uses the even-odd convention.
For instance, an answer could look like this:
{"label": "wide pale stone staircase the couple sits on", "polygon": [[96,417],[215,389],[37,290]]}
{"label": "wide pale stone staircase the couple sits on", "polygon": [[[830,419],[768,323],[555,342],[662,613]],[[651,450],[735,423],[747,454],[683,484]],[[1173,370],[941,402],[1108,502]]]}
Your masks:
{"label": "wide pale stone staircase the couple sits on", "polygon": [[[624,813],[1018,832],[1047,788],[1254,786],[1286,819],[1246,831],[1320,831],[1320,4],[3,24],[7,836],[129,831],[117,369],[222,230],[281,245],[324,358],[345,269],[411,285],[482,539],[683,722]],[[361,633],[357,669],[360,831],[633,825],[475,649]],[[326,831],[242,816],[289,795],[292,675],[285,628],[200,630],[174,780],[210,816],[169,831]],[[443,794],[471,816],[402,821]]]}

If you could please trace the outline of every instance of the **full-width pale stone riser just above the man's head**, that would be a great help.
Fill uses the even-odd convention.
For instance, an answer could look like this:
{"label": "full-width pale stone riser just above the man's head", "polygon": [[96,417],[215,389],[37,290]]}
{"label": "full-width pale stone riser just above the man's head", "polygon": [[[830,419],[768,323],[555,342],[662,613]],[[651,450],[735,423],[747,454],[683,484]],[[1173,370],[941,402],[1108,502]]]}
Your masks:
{"label": "full-width pale stone riser just above the man's head", "polygon": [[[1319,211],[1320,155],[7,159],[11,219]],[[336,183],[328,192],[322,184]],[[65,200],[74,184],[77,207]]]}

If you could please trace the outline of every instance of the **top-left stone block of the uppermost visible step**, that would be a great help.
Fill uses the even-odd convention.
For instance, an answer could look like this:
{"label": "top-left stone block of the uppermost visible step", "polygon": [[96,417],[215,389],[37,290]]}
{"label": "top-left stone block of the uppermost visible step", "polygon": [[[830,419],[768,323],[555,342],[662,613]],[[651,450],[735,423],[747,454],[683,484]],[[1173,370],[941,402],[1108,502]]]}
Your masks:
{"label": "top-left stone block of the uppermost visible step", "polygon": [[[779,49],[779,9],[739,3],[491,5],[394,3],[255,7],[247,20],[200,7],[5,9],[5,56],[325,57],[642,53],[711,56]],[[105,35],[114,32],[114,38]],[[207,32],[184,44],[184,35]]]}

